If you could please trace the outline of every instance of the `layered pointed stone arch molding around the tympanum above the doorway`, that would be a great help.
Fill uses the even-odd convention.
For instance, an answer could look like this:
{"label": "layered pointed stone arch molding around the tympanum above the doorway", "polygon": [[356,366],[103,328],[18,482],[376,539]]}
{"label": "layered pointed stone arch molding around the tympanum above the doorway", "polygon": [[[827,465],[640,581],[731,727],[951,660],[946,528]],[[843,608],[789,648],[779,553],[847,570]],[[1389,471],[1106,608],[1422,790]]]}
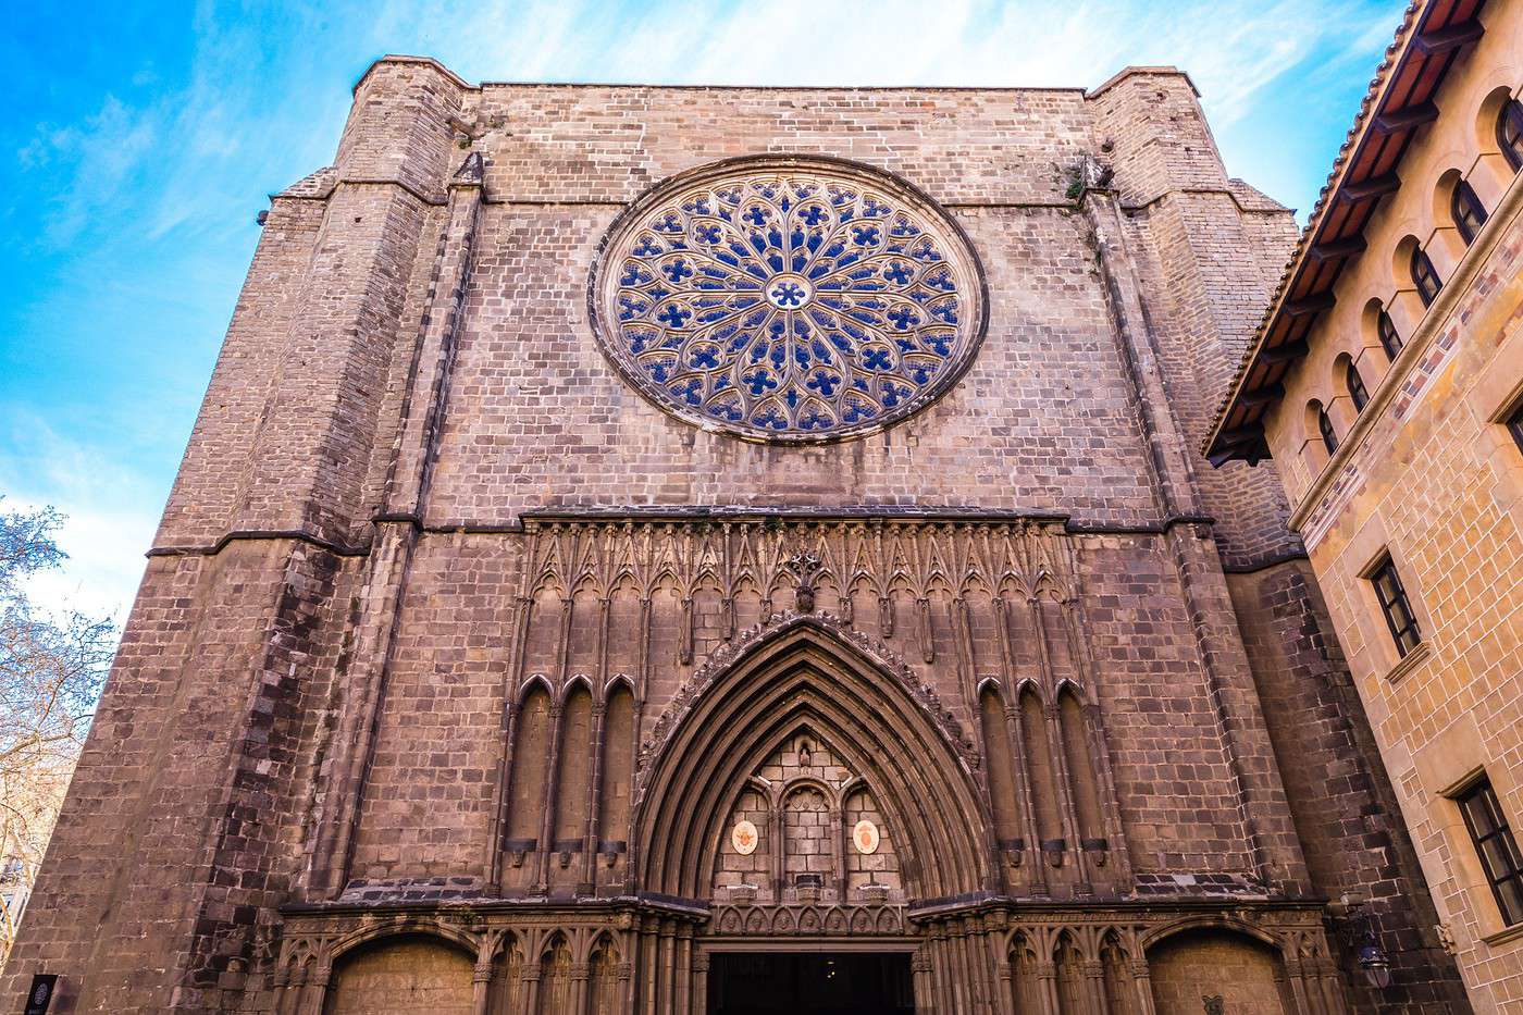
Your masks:
{"label": "layered pointed stone arch molding around the tympanum above the doorway", "polygon": [[[705,675],[658,742],[647,744],[635,814],[643,887],[704,896],[722,823],[751,771],[809,730],[864,774],[897,821],[914,895],[987,890],[988,823],[967,748],[908,683],[813,617],[752,639],[739,658]],[[694,767],[707,777],[691,779]]]}

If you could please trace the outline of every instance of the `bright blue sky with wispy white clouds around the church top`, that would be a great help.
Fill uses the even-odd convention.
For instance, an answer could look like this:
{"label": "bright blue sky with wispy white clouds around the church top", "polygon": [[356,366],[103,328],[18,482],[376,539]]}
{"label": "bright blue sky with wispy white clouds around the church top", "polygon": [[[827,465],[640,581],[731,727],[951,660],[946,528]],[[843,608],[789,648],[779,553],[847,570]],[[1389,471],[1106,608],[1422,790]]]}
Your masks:
{"label": "bright blue sky with wispy white clouds around the church top", "polygon": [[69,515],[46,605],[125,619],[254,215],[381,53],[468,81],[1080,85],[1174,64],[1228,169],[1310,209],[1395,0],[32,5],[0,27],[0,494]]}

